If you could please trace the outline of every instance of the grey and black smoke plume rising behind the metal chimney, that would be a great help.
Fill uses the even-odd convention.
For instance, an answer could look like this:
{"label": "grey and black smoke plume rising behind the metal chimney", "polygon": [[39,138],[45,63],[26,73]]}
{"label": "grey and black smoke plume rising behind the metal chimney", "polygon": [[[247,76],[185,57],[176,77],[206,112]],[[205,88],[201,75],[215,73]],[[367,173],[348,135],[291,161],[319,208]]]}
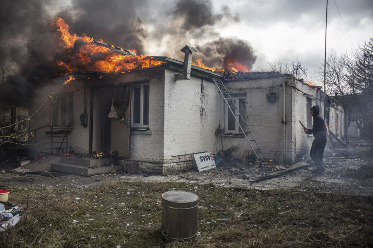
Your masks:
{"label": "grey and black smoke plume rising behind the metal chimney", "polygon": [[193,58],[202,59],[206,66],[230,69],[233,62],[238,62],[253,68],[256,55],[247,41],[220,36],[221,28],[240,21],[228,6],[215,10],[211,0],[177,0],[165,16],[163,31],[157,29],[153,36],[166,44],[168,56],[182,60],[179,50],[187,44],[197,50]]}

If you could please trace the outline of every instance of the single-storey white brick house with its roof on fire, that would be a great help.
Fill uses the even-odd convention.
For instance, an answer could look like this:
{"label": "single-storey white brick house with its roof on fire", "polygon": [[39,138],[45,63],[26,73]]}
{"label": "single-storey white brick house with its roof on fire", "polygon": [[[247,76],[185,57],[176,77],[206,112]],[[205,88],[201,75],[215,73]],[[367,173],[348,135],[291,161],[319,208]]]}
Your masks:
{"label": "single-storey white brick house with its roof on fire", "polygon": [[[89,37],[69,35],[58,20],[65,52],[64,75],[37,91],[33,111],[48,95],[56,103],[30,121],[36,140],[54,137],[41,154],[114,153],[118,164],[165,173],[194,167],[193,154],[230,150],[242,159],[253,147],[230,114],[215,82],[223,82],[237,113],[246,120],[266,159],[293,164],[307,157],[312,142],[299,120],[312,126],[309,108],[325,108],[330,131],[344,136],[341,106],[325,100],[320,87],[277,72],[212,71],[192,64],[197,51],[185,46],[184,62],[139,56]],[[87,70],[89,68],[89,70]],[[325,116],[326,117],[326,116]],[[57,141],[57,137],[60,139]],[[218,142],[219,141],[219,142]]]}

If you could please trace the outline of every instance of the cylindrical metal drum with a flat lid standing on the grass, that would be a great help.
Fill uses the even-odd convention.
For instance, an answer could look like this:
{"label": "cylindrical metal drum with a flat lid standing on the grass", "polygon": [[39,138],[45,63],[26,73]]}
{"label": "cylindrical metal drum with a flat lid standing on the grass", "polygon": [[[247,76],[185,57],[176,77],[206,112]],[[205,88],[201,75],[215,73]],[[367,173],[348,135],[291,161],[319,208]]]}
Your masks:
{"label": "cylindrical metal drum with a flat lid standing on the grass", "polygon": [[169,239],[190,239],[197,234],[199,197],[172,190],[162,195],[162,235]]}

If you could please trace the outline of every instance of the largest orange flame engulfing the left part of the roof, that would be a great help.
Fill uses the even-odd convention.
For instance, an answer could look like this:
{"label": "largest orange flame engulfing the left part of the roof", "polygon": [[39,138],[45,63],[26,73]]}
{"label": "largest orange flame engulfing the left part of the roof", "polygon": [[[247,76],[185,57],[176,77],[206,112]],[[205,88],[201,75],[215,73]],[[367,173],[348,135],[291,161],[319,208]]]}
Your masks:
{"label": "largest orange flame engulfing the left part of the roof", "polygon": [[[79,70],[120,73],[164,63],[151,56],[136,55],[135,50],[125,51],[102,41],[100,44],[85,34],[83,36],[77,36],[75,33],[71,35],[68,32],[68,24],[62,18],[58,18],[53,25],[57,26],[57,31],[61,33],[61,46],[66,53],[66,56],[60,56],[63,58],[57,60],[57,65],[61,66],[66,73]],[[125,55],[120,51],[128,54],[132,52],[134,55]]]}

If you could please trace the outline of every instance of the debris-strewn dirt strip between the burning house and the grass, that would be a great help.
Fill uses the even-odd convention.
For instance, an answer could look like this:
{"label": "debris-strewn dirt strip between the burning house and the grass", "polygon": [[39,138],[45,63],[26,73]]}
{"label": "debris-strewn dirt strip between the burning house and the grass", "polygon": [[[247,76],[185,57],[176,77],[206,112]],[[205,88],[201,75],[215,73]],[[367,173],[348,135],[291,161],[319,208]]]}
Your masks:
{"label": "debris-strewn dirt strip between the burning house and the grass", "polygon": [[[314,168],[299,169],[275,178],[251,182],[272,172],[272,167],[239,165],[218,165],[217,168],[203,172],[187,171],[168,175],[129,174],[122,171],[83,177],[62,172],[15,173],[14,168],[1,170],[1,187],[38,187],[89,188],[102,182],[191,182],[214,183],[216,186],[255,188],[255,189],[293,189],[297,191],[335,192],[357,196],[373,196],[373,155],[372,145],[363,143],[350,145],[347,149],[324,154],[325,172],[322,175],[312,173]],[[284,165],[285,166],[285,165]],[[286,166],[285,166],[286,167]],[[17,170],[17,169],[16,169]]]}

